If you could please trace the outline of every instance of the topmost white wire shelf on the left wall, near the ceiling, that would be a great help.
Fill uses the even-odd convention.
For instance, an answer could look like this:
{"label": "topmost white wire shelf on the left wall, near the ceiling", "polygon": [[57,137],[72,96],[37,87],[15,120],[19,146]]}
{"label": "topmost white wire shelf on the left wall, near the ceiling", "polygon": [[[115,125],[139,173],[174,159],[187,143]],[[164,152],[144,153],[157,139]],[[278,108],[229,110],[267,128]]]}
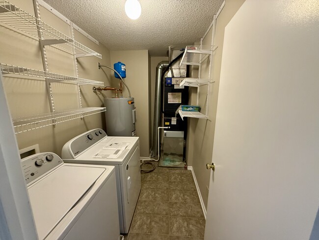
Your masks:
{"label": "topmost white wire shelf on the left wall, near the ceiling", "polygon": [[[73,54],[73,48],[75,48],[77,50],[76,54],[84,53],[102,59],[101,54],[54,29],[9,1],[0,0],[0,21],[40,39],[44,45],[54,44],[71,54]],[[41,31],[41,37],[39,37],[38,30]]]}

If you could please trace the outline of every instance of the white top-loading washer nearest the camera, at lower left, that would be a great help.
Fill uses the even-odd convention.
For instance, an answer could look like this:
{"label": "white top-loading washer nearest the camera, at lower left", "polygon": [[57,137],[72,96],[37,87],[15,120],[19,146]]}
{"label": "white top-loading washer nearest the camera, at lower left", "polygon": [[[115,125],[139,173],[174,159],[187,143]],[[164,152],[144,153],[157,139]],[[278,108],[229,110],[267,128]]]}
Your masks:
{"label": "white top-loading washer nearest the camera, at lower left", "polygon": [[52,152],[22,159],[39,240],[119,240],[115,169],[63,163]]}

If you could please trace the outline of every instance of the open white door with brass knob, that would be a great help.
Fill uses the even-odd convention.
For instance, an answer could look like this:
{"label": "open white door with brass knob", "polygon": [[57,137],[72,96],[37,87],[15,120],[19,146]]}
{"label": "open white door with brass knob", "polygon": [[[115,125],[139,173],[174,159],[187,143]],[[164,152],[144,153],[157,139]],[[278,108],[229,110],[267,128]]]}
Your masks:
{"label": "open white door with brass knob", "polygon": [[225,29],[205,240],[309,240],[319,207],[319,4],[246,0]]}

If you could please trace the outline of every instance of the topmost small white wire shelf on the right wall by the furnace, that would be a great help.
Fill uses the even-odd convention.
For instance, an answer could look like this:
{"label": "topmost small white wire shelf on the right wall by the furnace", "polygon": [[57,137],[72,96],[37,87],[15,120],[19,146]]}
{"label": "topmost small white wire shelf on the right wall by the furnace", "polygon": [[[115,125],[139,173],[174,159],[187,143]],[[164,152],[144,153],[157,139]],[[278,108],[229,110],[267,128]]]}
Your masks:
{"label": "topmost small white wire shelf on the right wall by the furnace", "polygon": [[200,65],[212,54],[213,46],[186,46],[184,55],[180,62],[186,65]]}

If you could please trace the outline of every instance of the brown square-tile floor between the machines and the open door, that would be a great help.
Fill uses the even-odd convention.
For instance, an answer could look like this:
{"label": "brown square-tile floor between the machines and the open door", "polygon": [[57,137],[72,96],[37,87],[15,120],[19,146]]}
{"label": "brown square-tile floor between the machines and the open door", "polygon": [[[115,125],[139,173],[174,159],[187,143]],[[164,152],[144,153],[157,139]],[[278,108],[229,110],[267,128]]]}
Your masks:
{"label": "brown square-tile floor between the machines and the open door", "polygon": [[125,240],[204,240],[205,218],[190,170],[156,168],[141,178]]}

